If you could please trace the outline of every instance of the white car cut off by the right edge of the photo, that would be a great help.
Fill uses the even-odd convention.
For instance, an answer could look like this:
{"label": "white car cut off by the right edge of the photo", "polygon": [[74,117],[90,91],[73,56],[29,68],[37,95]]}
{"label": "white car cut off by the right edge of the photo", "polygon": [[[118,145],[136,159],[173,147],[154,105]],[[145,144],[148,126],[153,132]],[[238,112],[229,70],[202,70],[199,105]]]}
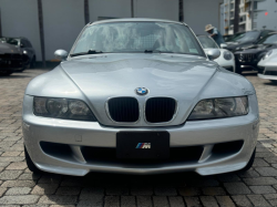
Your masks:
{"label": "white car cut off by the right edge of the photo", "polygon": [[277,83],[277,49],[270,50],[258,63],[258,76]]}

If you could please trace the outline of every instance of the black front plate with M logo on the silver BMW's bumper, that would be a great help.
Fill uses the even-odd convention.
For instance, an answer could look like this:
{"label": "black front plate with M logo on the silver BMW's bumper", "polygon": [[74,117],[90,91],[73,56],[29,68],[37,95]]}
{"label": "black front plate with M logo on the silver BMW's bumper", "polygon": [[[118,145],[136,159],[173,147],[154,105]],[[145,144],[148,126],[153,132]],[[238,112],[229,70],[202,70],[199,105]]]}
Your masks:
{"label": "black front plate with M logo on the silver BMW's bumper", "polygon": [[168,132],[119,132],[116,156],[127,159],[170,158]]}

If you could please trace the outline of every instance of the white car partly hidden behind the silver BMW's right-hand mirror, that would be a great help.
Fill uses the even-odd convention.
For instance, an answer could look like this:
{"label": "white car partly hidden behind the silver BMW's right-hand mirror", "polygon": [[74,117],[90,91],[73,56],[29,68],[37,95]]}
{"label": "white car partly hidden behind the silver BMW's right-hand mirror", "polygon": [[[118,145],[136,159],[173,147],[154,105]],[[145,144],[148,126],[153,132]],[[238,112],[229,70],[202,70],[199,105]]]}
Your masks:
{"label": "white car partly hidden behind the silver BMW's right-hand mirror", "polygon": [[226,49],[219,49],[216,42],[207,35],[198,35],[197,38],[205,52],[209,49],[220,50],[220,56],[215,59],[215,62],[217,62],[220,66],[225,68],[228,71],[236,72],[235,58],[232,52]]}

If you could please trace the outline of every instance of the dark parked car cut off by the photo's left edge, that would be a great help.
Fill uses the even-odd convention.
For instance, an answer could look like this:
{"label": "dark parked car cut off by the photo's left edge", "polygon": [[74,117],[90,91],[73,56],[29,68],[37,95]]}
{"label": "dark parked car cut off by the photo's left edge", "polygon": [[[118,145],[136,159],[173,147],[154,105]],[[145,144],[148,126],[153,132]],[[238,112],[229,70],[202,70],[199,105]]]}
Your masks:
{"label": "dark parked car cut off by the photo's left edge", "polygon": [[20,69],[22,69],[20,50],[12,44],[0,42],[0,75],[10,75]]}

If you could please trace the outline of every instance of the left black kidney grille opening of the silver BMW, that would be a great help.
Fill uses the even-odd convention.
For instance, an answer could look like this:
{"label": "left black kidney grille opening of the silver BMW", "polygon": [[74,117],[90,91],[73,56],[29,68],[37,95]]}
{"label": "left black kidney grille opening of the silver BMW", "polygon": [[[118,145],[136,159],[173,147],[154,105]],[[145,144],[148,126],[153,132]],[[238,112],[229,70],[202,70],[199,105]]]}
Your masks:
{"label": "left black kidney grille opening of the silver BMW", "polygon": [[114,97],[107,102],[114,122],[135,123],[140,117],[138,102],[134,97]]}

